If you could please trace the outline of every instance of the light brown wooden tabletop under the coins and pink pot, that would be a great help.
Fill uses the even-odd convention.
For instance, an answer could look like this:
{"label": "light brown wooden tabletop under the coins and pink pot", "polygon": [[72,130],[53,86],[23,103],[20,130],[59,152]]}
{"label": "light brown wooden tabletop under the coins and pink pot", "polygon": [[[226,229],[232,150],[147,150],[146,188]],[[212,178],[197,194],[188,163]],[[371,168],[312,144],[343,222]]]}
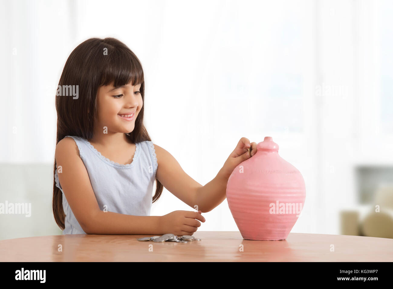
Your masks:
{"label": "light brown wooden tabletop under the coins and pink pot", "polygon": [[196,231],[193,236],[202,241],[136,240],[143,236],[74,234],[2,240],[0,261],[393,261],[393,239],[384,238],[290,233],[286,240],[253,241],[238,231]]}

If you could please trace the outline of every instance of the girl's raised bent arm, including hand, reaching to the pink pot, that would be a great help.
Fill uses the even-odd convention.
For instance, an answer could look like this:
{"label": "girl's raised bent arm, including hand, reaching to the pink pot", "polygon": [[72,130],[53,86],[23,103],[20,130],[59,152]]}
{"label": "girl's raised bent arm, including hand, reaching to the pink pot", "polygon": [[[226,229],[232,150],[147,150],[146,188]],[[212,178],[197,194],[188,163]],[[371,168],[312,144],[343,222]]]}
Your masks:
{"label": "girl's raised bent arm, including hand, reaching to the pink pot", "polygon": [[[251,147],[251,155],[249,148]],[[241,138],[215,178],[202,186],[187,175],[176,159],[154,144],[157,155],[156,178],[178,199],[202,213],[210,212],[226,198],[226,184],[233,169],[257,152],[257,144]],[[198,206],[198,207],[195,207]]]}

